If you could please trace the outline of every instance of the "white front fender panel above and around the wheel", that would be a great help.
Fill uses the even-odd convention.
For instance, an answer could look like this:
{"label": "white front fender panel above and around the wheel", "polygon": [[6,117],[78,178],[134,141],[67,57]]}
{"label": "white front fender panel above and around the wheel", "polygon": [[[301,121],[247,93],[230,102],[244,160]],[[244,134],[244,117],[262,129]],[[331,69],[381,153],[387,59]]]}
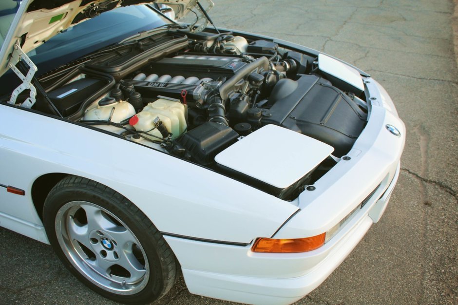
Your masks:
{"label": "white front fender panel above and around the wheel", "polygon": [[[270,237],[298,209],[107,133],[13,106],[0,105],[0,110],[0,152],[8,160],[8,184],[29,193],[33,181],[46,173],[82,176],[131,200],[161,232],[234,243]],[[34,210],[31,197],[28,201],[24,209]]]}

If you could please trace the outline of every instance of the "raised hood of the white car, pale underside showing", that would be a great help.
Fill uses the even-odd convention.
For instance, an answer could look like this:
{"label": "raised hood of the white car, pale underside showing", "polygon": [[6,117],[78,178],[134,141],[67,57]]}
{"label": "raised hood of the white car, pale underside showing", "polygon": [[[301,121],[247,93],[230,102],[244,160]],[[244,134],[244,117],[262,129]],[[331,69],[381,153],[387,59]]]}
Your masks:
{"label": "raised hood of the white car, pale underside showing", "polygon": [[181,19],[196,5],[196,0],[23,0],[1,46],[0,75],[8,70],[5,55],[12,53],[16,41],[27,53],[61,31],[103,12],[147,3],[166,4],[173,9],[175,19]]}

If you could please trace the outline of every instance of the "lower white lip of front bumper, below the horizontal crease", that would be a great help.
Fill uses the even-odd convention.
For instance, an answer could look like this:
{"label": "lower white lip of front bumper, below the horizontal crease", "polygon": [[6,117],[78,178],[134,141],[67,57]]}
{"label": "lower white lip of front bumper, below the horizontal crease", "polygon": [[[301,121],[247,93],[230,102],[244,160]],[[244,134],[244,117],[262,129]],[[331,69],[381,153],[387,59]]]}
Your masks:
{"label": "lower white lip of front bumper, below the horizontal crease", "polygon": [[295,278],[260,278],[218,274],[183,268],[183,276],[191,293],[247,304],[291,304],[318,287],[359,243],[372,225],[364,217],[342,239],[326,258],[303,276]]}

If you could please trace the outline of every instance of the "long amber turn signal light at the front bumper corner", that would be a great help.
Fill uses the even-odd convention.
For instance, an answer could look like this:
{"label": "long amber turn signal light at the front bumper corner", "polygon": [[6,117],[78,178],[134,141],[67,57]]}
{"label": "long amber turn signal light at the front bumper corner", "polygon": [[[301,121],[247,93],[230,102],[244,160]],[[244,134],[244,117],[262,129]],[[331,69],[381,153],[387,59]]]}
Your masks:
{"label": "long amber turn signal light at the front bumper corner", "polygon": [[295,239],[258,238],[251,251],[263,253],[298,253],[315,250],[324,245],[326,233]]}

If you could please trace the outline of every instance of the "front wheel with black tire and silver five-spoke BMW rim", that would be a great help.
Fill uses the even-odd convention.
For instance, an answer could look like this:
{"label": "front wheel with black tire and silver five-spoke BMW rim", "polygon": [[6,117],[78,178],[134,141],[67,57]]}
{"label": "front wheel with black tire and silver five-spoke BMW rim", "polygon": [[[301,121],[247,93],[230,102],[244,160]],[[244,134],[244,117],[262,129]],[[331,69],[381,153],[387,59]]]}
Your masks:
{"label": "front wheel with black tire and silver five-spoke BMW rim", "polygon": [[65,267],[104,297],[145,304],[173,286],[177,264],[162,234],[132,202],[100,183],[62,179],[46,198],[43,223]]}

